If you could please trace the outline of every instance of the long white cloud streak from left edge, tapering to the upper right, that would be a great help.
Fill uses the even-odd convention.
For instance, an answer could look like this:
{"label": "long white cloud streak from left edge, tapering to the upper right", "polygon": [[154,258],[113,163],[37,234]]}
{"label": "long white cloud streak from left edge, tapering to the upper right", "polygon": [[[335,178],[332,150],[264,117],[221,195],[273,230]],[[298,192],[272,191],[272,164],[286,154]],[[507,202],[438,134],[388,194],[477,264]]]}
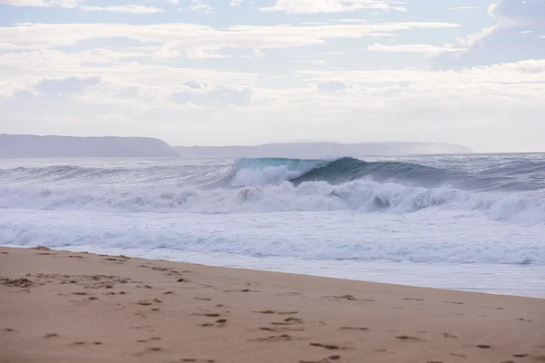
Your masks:
{"label": "long white cloud streak from left edge, tapering to the upper right", "polygon": [[206,25],[163,24],[20,24],[0,27],[0,44],[27,49],[70,46],[91,39],[127,38],[158,44],[157,59],[182,55],[193,59],[222,56],[222,49],[274,49],[324,44],[335,38],[391,36],[412,29],[452,28],[451,23],[381,23],[363,25],[235,25],[214,29]]}

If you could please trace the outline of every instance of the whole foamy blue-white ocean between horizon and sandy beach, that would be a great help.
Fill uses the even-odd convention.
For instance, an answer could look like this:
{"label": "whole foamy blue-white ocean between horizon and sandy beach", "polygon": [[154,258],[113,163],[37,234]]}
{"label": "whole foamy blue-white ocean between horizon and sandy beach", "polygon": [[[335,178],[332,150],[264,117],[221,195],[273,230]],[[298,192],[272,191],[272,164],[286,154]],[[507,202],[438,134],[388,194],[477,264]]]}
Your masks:
{"label": "whole foamy blue-white ocean between horizon and sandy beach", "polygon": [[545,298],[545,154],[0,159],[0,244]]}

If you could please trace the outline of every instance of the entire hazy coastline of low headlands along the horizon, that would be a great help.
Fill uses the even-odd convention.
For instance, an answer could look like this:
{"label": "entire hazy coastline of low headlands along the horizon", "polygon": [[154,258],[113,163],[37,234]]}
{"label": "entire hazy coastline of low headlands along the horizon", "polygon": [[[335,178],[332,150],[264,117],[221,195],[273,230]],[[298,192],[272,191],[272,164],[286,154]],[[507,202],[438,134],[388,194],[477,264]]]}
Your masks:
{"label": "entire hazy coastline of low headlands along the horizon", "polygon": [[370,155],[473,153],[465,146],[434,142],[293,142],[256,146],[171,146],[150,137],[76,137],[0,134],[4,158],[230,157],[323,159]]}

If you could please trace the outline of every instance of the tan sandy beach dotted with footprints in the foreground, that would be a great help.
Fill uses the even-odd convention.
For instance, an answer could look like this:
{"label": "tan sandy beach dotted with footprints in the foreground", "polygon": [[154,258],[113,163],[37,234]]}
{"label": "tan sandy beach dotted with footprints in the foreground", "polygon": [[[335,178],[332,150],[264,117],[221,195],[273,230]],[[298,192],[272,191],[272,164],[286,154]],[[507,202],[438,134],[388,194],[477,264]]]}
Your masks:
{"label": "tan sandy beach dotted with footprints in the foreground", "polygon": [[538,362],[545,299],[0,248],[0,361]]}

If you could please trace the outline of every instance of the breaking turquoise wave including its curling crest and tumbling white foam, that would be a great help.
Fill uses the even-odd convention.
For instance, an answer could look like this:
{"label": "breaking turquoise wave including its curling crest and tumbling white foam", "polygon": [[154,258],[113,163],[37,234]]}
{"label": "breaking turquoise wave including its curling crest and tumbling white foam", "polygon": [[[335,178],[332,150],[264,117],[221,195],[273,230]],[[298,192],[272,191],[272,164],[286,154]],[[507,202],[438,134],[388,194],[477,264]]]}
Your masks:
{"label": "breaking turquoise wave including its curling crest and tumbling white foam", "polygon": [[545,221],[542,199],[490,192],[515,185],[508,177],[404,162],[265,158],[221,167],[61,165],[0,171],[0,181],[5,178],[11,184],[0,187],[4,209],[410,213],[434,208],[483,211],[493,220]]}

